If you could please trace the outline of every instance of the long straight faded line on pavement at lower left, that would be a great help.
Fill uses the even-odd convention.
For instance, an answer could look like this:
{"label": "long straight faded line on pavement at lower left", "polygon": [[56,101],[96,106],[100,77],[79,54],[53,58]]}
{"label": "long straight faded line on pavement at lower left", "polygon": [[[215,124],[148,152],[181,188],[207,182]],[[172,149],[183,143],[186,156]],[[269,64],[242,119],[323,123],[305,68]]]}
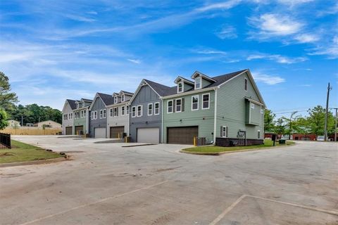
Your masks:
{"label": "long straight faded line on pavement at lower left", "polygon": [[84,205],[79,205],[79,206],[77,206],[77,207],[73,207],[73,208],[68,209],[68,210],[63,210],[63,211],[58,212],[58,213],[55,213],[55,214],[50,214],[50,215],[48,215],[48,216],[46,216],[46,217],[40,217],[40,218],[35,219],[35,220],[32,220],[32,221],[27,221],[27,222],[25,222],[25,223],[23,223],[23,224],[20,224],[20,225],[33,224],[33,223],[35,223],[35,222],[42,221],[42,220],[44,220],[44,219],[49,219],[49,218],[51,218],[51,217],[56,217],[56,216],[58,216],[58,215],[61,215],[61,214],[66,213],[66,212],[71,212],[71,211],[73,211],[73,210],[78,210],[78,209],[83,208],[83,207],[87,207],[87,206],[91,206],[91,205],[95,205],[95,204],[98,204],[98,203],[105,202],[106,200],[111,200],[111,199],[113,199],[113,198],[119,198],[119,197],[122,197],[122,196],[124,196],[124,195],[129,195],[129,194],[132,194],[132,193],[135,193],[135,192],[138,192],[138,191],[143,191],[143,190],[146,190],[146,189],[155,187],[155,186],[159,186],[159,185],[161,185],[161,184],[165,184],[165,183],[167,183],[167,182],[168,182],[168,181],[162,181],[162,182],[160,182],[160,183],[153,184],[153,185],[150,185],[150,186],[146,186],[146,187],[143,187],[143,188],[139,188],[139,189],[136,189],[136,190],[133,190],[133,191],[128,191],[128,192],[122,193],[122,194],[120,194],[120,195],[113,195],[113,196],[110,196],[110,197],[108,197],[108,198],[102,198],[101,200],[95,201],[95,202],[93,202],[93,203],[87,203],[87,204],[84,204]]}

